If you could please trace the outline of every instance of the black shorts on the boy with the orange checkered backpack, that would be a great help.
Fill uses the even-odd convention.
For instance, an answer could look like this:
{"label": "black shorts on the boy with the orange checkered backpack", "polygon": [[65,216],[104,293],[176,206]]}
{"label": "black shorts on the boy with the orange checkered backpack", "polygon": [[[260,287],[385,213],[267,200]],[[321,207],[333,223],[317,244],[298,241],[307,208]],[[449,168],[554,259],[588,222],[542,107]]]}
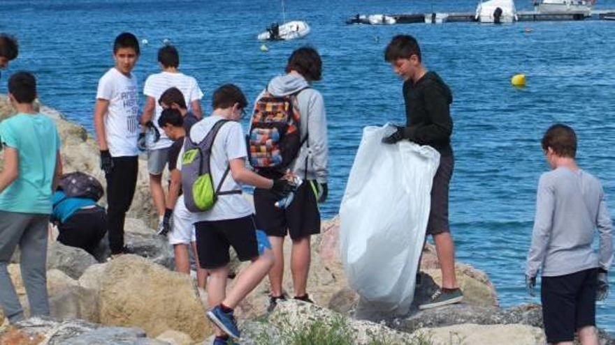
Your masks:
{"label": "black shorts on the boy with the orange checkered backpack", "polygon": [[286,209],[275,207],[278,199],[275,194],[256,188],[256,227],[265,231],[267,236],[284,237],[289,233],[293,240],[320,233],[320,211],[314,183],[303,181]]}

